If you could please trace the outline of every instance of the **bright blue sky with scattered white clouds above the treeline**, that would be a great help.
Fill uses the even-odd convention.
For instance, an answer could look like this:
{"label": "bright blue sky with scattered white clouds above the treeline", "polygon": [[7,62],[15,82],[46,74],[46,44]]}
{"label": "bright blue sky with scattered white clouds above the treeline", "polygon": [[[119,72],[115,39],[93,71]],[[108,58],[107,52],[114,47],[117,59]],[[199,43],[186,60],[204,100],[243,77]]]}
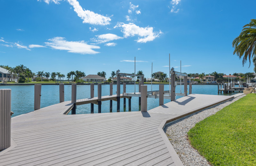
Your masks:
{"label": "bright blue sky with scattered white clouds above the treeline", "polygon": [[[32,72],[253,72],[232,41],[256,1],[0,0],[0,64]],[[180,68],[176,68],[178,71]]]}

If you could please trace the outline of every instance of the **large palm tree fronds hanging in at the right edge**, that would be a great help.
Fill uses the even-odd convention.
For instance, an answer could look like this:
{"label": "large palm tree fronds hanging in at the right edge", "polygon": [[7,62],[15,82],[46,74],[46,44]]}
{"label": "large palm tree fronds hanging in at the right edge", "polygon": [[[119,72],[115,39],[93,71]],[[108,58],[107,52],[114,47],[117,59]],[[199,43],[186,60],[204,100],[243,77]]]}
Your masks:
{"label": "large palm tree fronds hanging in at the right edge", "polygon": [[243,26],[242,32],[232,42],[232,47],[235,47],[233,54],[237,55],[239,59],[243,57],[242,64],[249,59],[249,67],[251,65],[251,58],[256,55],[256,19],[251,19],[249,24]]}

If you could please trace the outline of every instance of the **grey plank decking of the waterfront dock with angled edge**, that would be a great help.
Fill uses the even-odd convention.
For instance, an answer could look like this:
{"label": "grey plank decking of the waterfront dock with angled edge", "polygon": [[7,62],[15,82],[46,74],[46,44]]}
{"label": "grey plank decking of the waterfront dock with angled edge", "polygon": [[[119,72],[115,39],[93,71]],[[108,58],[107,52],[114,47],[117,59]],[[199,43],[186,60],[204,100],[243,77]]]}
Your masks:
{"label": "grey plank decking of the waterfront dock with angled edge", "polygon": [[0,152],[0,165],[182,165],[164,124],[232,97],[190,94],[148,112],[77,115],[58,103],[12,118],[17,145]]}

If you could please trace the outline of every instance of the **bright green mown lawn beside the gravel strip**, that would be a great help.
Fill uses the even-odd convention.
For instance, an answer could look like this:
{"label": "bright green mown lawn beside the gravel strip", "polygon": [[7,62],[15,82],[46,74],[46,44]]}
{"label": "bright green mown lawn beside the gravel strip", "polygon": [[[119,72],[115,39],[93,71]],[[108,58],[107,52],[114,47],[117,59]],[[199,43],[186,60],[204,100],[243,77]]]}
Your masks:
{"label": "bright green mown lawn beside the gravel strip", "polygon": [[223,108],[188,132],[191,145],[212,165],[256,165],[256,94]]}

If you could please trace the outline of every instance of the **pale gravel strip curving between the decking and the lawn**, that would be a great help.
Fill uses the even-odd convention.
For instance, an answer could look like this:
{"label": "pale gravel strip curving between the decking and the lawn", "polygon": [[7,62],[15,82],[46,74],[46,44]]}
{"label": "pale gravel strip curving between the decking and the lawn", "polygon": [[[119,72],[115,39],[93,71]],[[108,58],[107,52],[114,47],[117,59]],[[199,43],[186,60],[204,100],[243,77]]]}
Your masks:
{"label": "pale gravel strip curving between the decking and the lawn", "polygon": [[188,131],[195,126],[196,123],[204,120],[206,117],[209,117],[224,107],[228,106],[232,102],[237,101],[238,99],[244,97],[244,95],[230,99],[229,101],[222,102],[220,104],[214,105],[207,109],[204,109],[195,114],[184,117],[178,121],[165,126],[164,132],[167,135],[168,139],[172,143],[176,153],[180,157],[180,160],[185,166],[210,166],[211,164],[201,156],[196,149],[194,149],[188,142]]}

